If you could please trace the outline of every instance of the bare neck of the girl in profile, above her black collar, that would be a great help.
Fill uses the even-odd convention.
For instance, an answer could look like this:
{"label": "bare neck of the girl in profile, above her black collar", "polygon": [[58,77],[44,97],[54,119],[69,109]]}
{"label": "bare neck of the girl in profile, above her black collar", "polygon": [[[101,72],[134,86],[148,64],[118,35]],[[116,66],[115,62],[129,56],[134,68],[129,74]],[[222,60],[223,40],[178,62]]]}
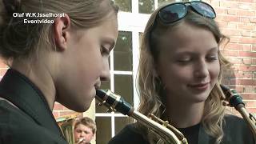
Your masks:
{"label": "bare neck of the girl in profile, above her black collar", "polygon": [[14,60],[11,66],[14,70],[18,70],[20,73],[30,79],[34,85],[38,86],[38,89],[42,91],[43,96],[46,98],[46,102],[53,110],[55,101],[55,88],[53,78],[50,75],[50,71],[47,70],[45,65],[42,65],[41,60]]}

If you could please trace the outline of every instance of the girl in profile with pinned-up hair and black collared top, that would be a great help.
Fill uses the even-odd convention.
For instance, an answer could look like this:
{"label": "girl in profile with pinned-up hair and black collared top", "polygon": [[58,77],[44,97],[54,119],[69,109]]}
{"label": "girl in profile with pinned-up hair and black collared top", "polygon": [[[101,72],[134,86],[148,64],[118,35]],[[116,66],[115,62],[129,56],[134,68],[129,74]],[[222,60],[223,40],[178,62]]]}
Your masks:
{"label": "girl in profile with pinned-up hair and black collared top", "polygon": [[65,144],[54,102],[84,112],[118,36],[110,0],[1,0],[0,54],[10,66],[0,82],[1,144]]}

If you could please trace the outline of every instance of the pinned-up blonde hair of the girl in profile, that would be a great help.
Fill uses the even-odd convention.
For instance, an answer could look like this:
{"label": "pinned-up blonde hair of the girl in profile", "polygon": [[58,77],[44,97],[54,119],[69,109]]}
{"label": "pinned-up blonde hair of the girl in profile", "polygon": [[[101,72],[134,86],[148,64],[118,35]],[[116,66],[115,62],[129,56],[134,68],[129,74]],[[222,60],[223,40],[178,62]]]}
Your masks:
{"label": "pinned-up blonde hair of the girl in profile", "polygon": [[[55,47],[51,23],[26,24],[14,13],[67,14],[71,26],[88,29],[100,25],[118,6],[110,0],[2,0],[0,1],[0,54],[2,58],[26,58],[39,47]],[[46,18],[36,18],[46,19]],[[54,20],[54,17],[47,18]]]}

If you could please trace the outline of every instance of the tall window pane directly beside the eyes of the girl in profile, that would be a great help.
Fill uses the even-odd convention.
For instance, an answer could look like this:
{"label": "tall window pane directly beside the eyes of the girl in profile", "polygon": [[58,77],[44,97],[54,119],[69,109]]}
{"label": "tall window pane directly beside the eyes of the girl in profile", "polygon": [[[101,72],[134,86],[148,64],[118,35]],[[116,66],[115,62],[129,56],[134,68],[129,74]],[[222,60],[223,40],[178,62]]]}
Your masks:
{"label": "tall window pane directly beside the eyes of the girl in profile", "polygon": [[132,33],[120,31],[114,48],[114,70],[132,71]]}

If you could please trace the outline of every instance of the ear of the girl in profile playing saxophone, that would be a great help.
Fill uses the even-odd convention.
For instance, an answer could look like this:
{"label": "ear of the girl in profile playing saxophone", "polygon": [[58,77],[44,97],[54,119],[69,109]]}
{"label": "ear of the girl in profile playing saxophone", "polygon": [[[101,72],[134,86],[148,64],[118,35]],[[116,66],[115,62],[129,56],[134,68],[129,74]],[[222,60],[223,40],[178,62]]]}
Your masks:
{"label": "ear of the girl in profile playing saxophone", "polygon": [[64,17],[55,18],[54,41],[57,50],[66,50],[67,40],[70,38],[70,26],[70,17],[67,14]]}

